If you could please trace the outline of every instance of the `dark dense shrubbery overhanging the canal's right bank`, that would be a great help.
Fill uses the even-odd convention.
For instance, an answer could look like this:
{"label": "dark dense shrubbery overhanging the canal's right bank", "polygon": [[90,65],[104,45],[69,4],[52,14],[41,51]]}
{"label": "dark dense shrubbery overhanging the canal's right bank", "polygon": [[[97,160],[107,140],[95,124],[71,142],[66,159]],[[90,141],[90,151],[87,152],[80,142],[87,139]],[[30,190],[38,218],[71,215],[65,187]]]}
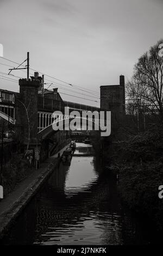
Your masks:
{"label": "dark dense shrubbery overhanging the canal's right bank", "polygon": [[163,199],[158,197],[158,188],[163,185],[163,126],[153,126],[119,144],[116,152],[112,151],[111,164],[119,174],[123,201],[130,209],[152,218],[162,229]]}

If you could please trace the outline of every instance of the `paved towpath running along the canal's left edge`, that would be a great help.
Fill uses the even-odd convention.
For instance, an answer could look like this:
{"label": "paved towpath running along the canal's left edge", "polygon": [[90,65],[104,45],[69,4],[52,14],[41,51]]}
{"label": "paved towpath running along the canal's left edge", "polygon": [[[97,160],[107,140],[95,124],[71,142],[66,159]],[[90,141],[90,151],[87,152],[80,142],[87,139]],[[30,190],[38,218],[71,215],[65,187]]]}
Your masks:
{"label": "paved towpath running along the canal's left edge", "polygon": [[[67,145],[58,153],[60,155],[66,149]],[[6,198],[0,202],[0,237],[9,229],[12,221],[20,214],[20,211],[27,205],[29,200],[39,190],[43,182],[53,172],[59,162],[58,153],[49,157],[41,164],[41,167],[32,174],[23,179],[16,185]]]}

